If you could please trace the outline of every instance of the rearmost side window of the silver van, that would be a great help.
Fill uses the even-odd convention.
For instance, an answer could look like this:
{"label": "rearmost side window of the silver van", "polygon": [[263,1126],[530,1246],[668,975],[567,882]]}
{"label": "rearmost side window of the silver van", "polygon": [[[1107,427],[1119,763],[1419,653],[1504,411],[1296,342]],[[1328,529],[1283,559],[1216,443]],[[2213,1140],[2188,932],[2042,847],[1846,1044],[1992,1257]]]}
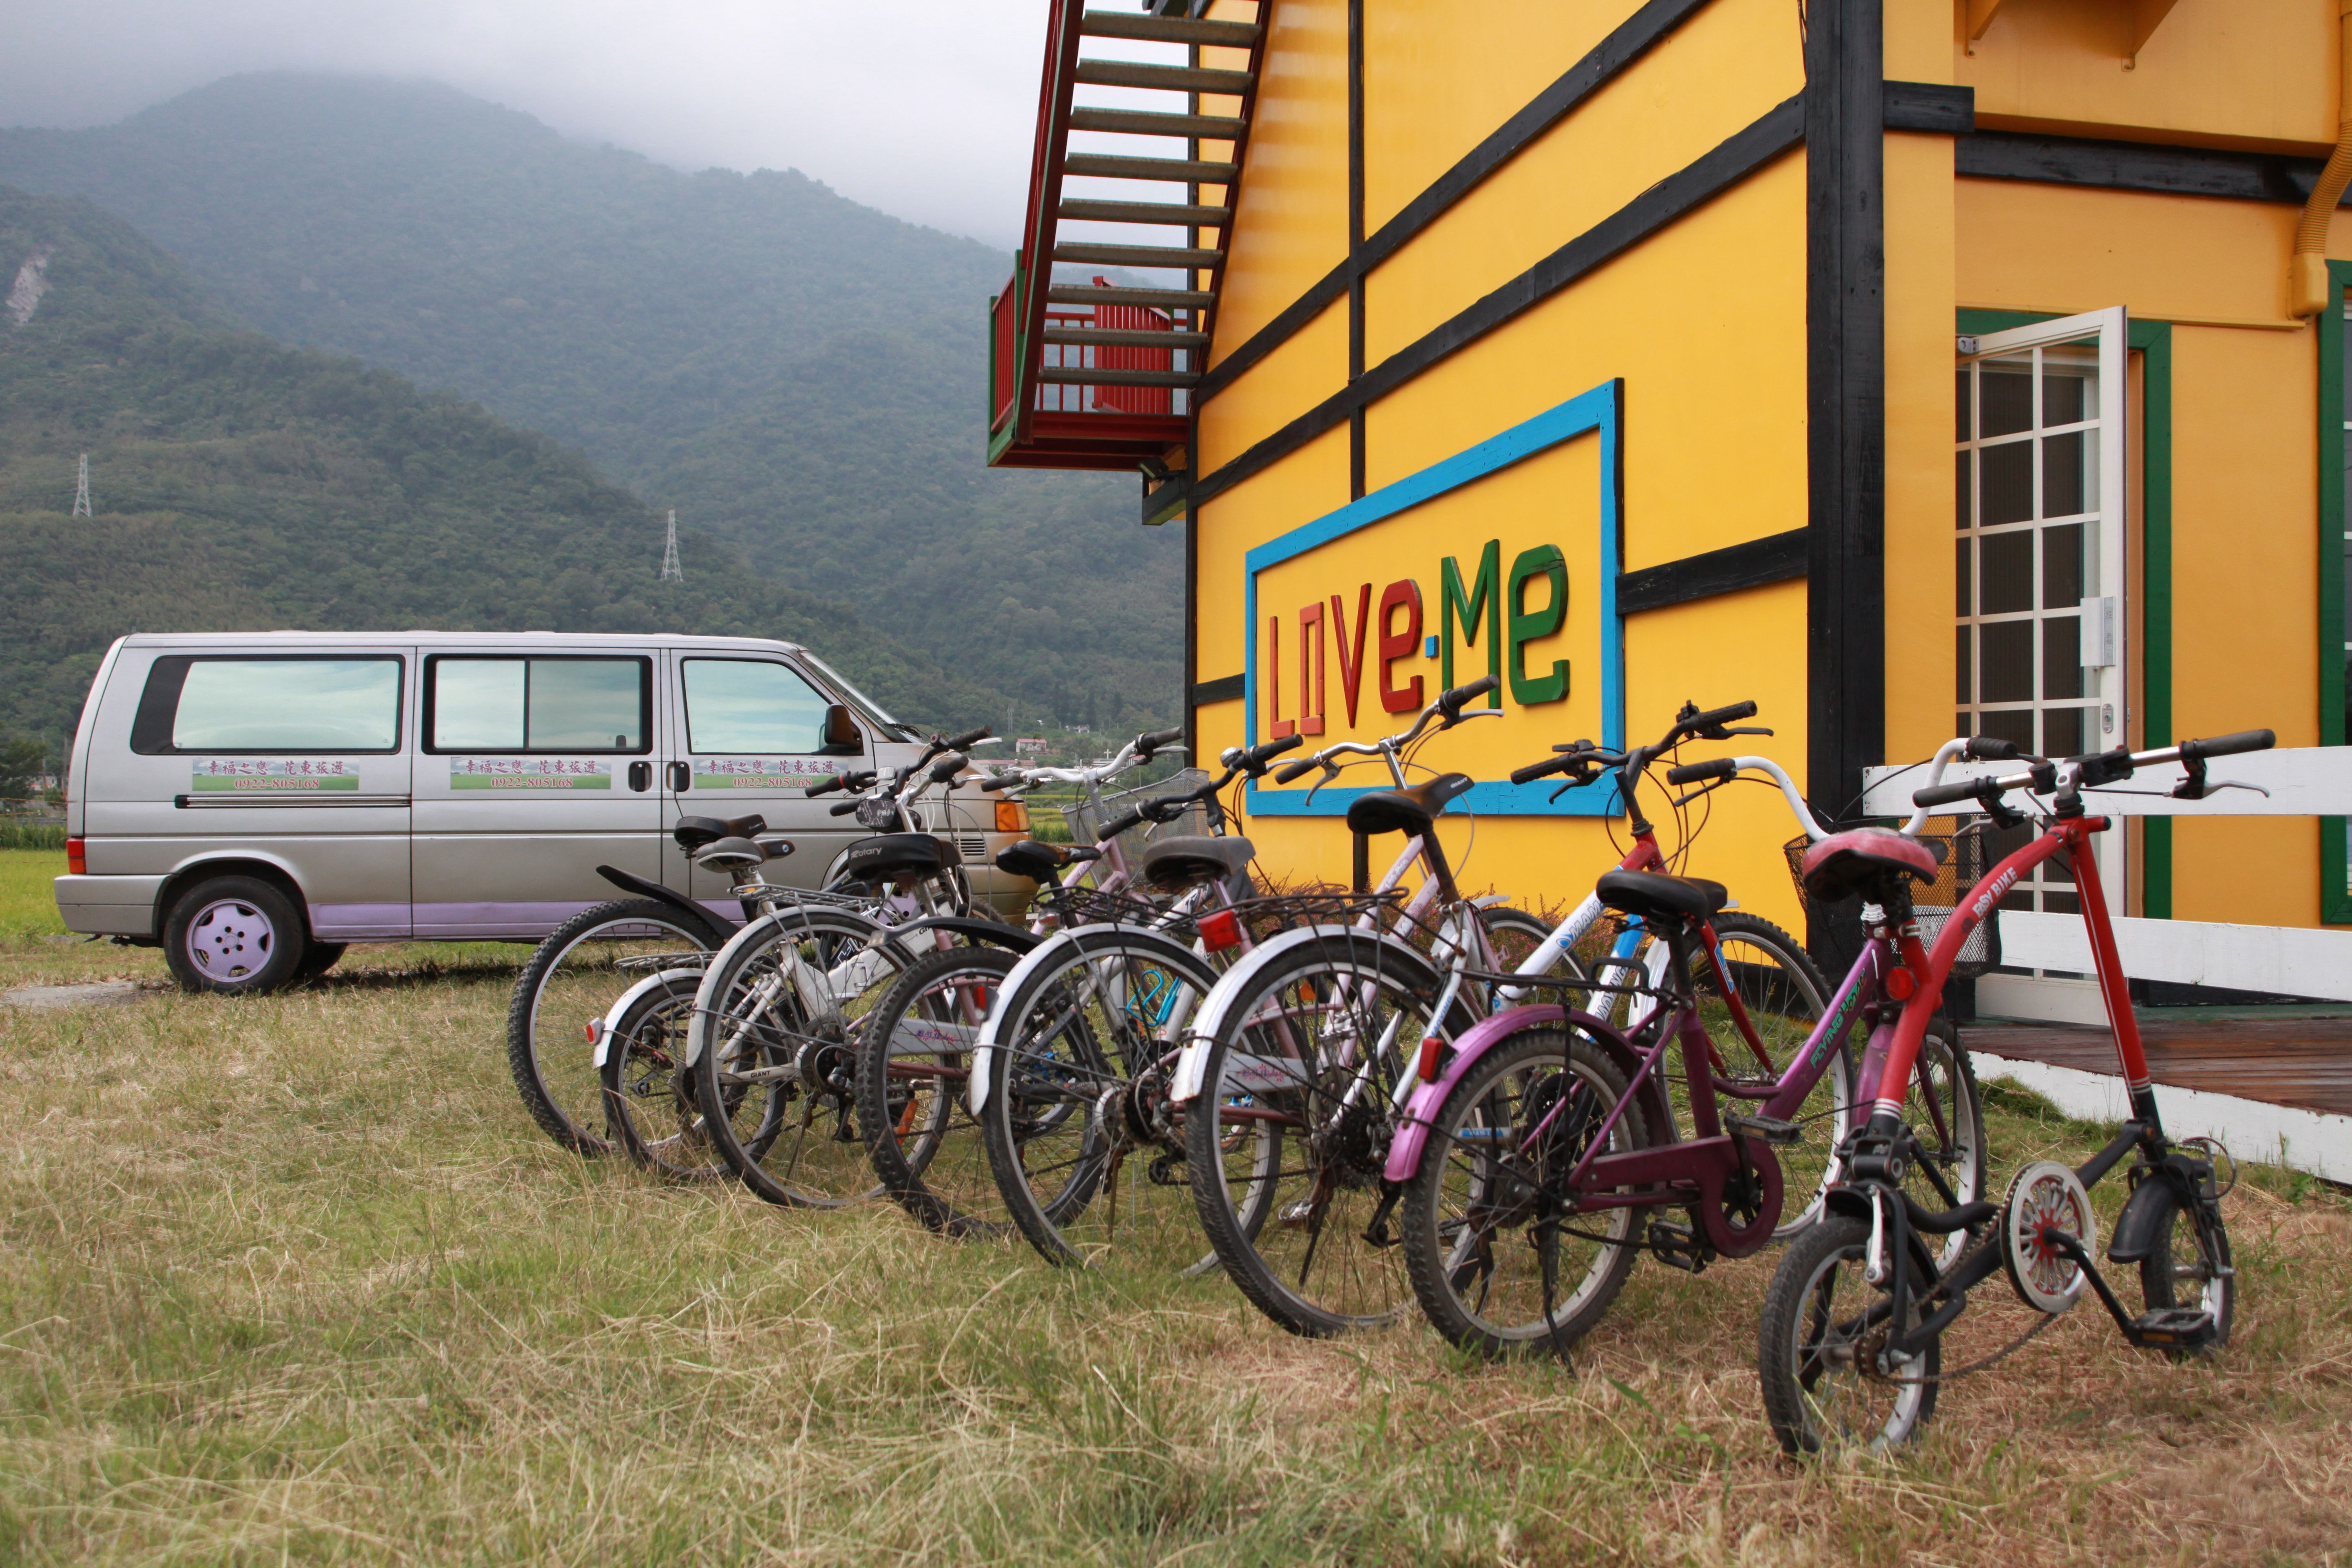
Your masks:
{"label": "rearmost side window of the silver van", "polygon": [[132,750],[395,752],[400,658],[167,654],[139,693]]}

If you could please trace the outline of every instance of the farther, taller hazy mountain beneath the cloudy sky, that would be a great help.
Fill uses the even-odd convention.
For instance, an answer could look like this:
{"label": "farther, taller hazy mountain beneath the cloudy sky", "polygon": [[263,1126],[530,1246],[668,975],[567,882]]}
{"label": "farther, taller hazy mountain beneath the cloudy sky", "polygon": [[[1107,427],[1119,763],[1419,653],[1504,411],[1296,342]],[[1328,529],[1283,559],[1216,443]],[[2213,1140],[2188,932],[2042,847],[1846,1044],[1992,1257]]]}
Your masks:
{"label": "farther, taller hazy mountain beneath the cloudy sky", "polygon": [[367,78],[0,132],[0,181],[89,195],[270,336],[581,447],[1023,712],[1178,712],[1181,531],[1136,527],[1131,477],[983,468],[1004,252],[797,172],[680,174]]}

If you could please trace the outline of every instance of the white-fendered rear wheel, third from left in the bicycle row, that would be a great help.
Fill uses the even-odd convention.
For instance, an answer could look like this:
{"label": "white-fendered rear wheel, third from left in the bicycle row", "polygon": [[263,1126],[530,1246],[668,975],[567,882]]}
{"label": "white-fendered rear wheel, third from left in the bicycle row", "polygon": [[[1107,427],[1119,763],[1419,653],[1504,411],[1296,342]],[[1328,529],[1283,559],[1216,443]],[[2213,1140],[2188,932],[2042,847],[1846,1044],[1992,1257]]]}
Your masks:
{"label": "white-fendered rear wheel, third from left in the bicycle row", "polygon": [[694,1103],[720,1159],[769,1204],[882,1192],[851,1067],[873,1004],[910,961],[887,926],[823,905],[762,917],[710,959],[687,1034]]}

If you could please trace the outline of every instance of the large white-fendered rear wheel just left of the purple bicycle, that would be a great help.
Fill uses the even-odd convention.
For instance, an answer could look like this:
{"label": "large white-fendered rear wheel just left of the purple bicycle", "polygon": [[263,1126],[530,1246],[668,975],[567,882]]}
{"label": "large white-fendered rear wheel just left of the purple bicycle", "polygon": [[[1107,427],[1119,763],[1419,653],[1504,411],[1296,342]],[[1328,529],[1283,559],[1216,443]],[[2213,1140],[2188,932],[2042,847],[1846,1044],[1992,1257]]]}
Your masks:
{"label": "large white-fendered rear wheel just left of the purple bicycle", "polygon": [[[1411,1300],[1385,1161],[1439,985],[1395,938],[1319,933],[1256,971],[1207,1046],[1195,1107],[1218,1112],[1185,1119],[1192,1199],[1232,1284],[1291,1333],[1371,1328]],[[1468,1025],[1456,1006],[1442,1032]]]}

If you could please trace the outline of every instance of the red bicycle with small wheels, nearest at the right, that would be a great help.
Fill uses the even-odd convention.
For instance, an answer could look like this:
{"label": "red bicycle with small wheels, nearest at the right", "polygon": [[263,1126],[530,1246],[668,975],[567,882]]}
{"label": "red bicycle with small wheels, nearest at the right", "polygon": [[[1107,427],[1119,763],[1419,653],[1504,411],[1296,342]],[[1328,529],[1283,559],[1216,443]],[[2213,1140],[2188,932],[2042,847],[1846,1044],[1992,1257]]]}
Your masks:
{"label": "red bicycle with small wheels, nearest at the right", "polygon": [[[2089,757],[2032,757],[2011,741],[1947,741],[1936,750],[1929,785],[1912,792],[1924,816],[1933,806],[1976,802],[2002,827],[2034,823],[2039,832],[1978,884],[1976,896],[1952,912],[1936,945],[1919,952],[1905,940],[1903,966],[1910,997],[1889,1041],[1882,1081],[1870,1098],[1870,1119],[1844,1150],[1846,1178],[1830,1190],[1830,1213],[1783,1258],[1764,1295],[1757,1326],[1757,1375],[1764,1418],[1788,1453],[1865,1446],[1889,1450],[1910,1441],[1936,1413],[1943,1382],[1997,1361],[2023,1345],[1987,1356],[1973,1368],[1943,1371],[1943,1333],[1966,1309],[1969,1291],[1997,1269],[2018,1300],[2042,1312],[2025,1338],[2072,1309],[2089,1286],[2129,1345],[2173,1356],[2206,1354],[2230,1340],[2237,1307],[2237,1272],[2220,1197],[2234,1185],[2218,1178],[2227,1152],[2209,1138],[2173,1140],[2157,1110],[2147,1077],[2131,985],[2114,947],[2114,924],[2100,889],[2091,835],[2110,820],[2084,809],[2084,795],[2131,778],[2138,769],[2180,764],[2171,790],[2178,799],[2204,799],[2213,790],[2253,788],[2213,783],[2206,759],[2258,752],[2274,745],[2267,729],[2183,741],[2145,752],[2124,748]],[[2020,773],[1940,783],[1955,757],[2023,759]],[[2025,790],[2051,797],[2049,811],[2020,811],[2004,797]],[[1919,818],[1912,818],[1919,820]],[[1903,1119],[1900,1091],[1910,1081],[1952,964],[1992,914],[2018,877],[2053,856],[2072,860],[2082,893],[2082,919],[2091,938],[2098,990],[2114,1032],[2117,1065],[2131,1095],[2131,1119],[2077,1168],[2042,1159],[2018,1171],[1999,1204],[1973,1201],[1926,1211],[1903,1192],[1915,1131]],[[1877,936],[1907,917],[1910,886],[1903,863],[1872,853],[1867,844],[1839,856],[1844,870],[1884,910]],[[1830,875],[1830,860],[1820,865]],[[1907,929],[1907,926],[1905,926]],[[2107,1244],[2107,1262],[2140,1274],[2140,1314],[2129,1314],[2096,1265],[2098,1222],[2091,1187],[2126,1157],[2129,1197]],[[2185,1220],[2185,1227],[2183,1227]],[[1922,1237],[1983,1232],[1950,1265],[1938,1269]],[[2190,1295],[2192,1300],[2183,1300]]]}

